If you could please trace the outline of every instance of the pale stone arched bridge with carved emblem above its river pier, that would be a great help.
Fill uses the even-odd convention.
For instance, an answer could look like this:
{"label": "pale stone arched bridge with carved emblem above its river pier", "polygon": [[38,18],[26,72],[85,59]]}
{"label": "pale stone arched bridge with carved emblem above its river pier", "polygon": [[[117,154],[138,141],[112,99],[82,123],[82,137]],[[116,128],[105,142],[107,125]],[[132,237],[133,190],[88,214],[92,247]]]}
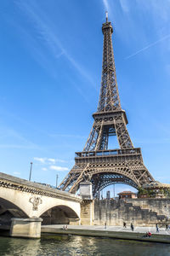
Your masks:
{"label": "pale stone arched bridge with carved emblem above its river pier", "polygon": [[8,211],[8,216],[14,217],[11,236],[38,237],[42,221],[76,222],[80,219],[81,202],[80,196],[0,172],[0,215]]}

